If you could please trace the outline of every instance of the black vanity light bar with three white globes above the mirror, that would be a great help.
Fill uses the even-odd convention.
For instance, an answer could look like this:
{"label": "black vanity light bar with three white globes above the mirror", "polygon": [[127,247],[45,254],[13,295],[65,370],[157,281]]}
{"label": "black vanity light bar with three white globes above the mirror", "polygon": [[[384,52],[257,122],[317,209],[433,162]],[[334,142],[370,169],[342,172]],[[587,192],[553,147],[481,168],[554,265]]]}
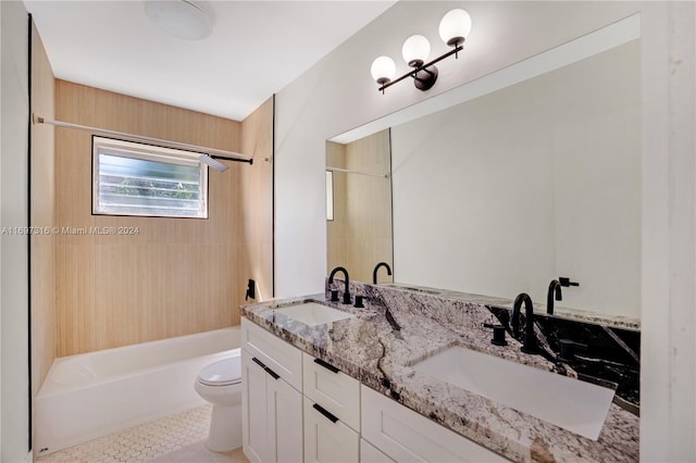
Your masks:
{"label": "black vanity light bar with three white globes above the mirror", "polygon": [[396,64],[389,57],[378,57],[372,62],[370,73],[372,78],[380,85],[378,90],[384,93],[387,87],[403,80],[407,77],[413,78],[413,84],[419,90],[427,90],[437,80],[437,67],[435,63],[447,57],[459,58],[459,52],[463,50],[464,40],[471,32],[471,16],[464,10],[455,9],[449,11],[439,22],[439,36],[445,43],[452,47],[450,51],[433,61],[426,62],[431,54],[431,45],[422,35],[413,35],[406,39],[401,48],[403,61],[411,67],[409,72],[394,79],[396,75]]}

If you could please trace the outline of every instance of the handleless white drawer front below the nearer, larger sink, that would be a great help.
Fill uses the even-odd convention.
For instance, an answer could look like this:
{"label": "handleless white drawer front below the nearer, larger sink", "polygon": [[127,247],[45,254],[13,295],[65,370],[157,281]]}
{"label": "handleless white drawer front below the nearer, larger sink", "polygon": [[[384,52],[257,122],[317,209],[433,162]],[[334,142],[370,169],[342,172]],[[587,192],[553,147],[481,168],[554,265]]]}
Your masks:
{"label": "handleless white drawer front below the nearer, larger sink", "polygon": [[362,437],[397,462],[507,462],[505,458],[361,387]]}

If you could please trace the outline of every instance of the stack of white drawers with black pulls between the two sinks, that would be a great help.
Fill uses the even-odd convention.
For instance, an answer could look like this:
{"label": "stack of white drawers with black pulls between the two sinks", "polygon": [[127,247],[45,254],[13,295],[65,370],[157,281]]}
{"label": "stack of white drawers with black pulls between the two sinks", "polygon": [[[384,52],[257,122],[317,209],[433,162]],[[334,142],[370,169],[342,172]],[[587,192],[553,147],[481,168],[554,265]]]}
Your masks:
{"label": "stack of white drawers with black pulls between the two sinks", "polygon": [[302,354],[304,462],[360,461],[360,383]]}

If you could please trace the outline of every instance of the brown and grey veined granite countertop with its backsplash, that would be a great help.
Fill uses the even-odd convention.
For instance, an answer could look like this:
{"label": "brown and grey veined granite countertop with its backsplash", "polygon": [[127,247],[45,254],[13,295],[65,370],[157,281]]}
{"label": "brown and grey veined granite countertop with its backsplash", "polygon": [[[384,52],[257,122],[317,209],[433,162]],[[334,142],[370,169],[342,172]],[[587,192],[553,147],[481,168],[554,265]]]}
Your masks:
{"label": "brown and grey veined granite countertop with its backsplash", "polygon": [[[356,292],[361,291],[361,292]],[[490,313],[481,303],[365,285],[364,309],[327,302],[325,295],[268,301],[241,308],[241,315],[282,339],[340,368],[399,403],[453,431],[520,462],[638,461],[638,417],[611,404],[597,441],[519,412],[463,388],[417,374],[411,365],[451,346],[461,346],[545,371],[556,366],[520,352],[520,342],[490,345],[483,328]],[[282,306],[316,301],[356,315],[308,326]],[[401,326],[391,329],[385,306]],[[573,376],[572,370],[567,374]]]}

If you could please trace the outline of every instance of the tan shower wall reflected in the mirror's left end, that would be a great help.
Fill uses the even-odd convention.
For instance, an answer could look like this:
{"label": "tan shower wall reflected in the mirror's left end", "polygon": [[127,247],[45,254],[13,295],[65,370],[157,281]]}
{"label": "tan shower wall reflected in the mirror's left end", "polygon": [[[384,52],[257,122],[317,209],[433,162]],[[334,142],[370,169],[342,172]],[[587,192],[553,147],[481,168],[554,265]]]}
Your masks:
{"label": "tan shower wall reflected in the mirror's left end", "polygon": [[[333,221],[326,221],[327,268],[348,268],[350,278],[372,283],[380,262],[391,266],[391,170],[389,130],[350,143],[326,142],[333,174]],[[328,178],[328,175],[327,175]],[[391,281],[382,271],[378,283]]]}

